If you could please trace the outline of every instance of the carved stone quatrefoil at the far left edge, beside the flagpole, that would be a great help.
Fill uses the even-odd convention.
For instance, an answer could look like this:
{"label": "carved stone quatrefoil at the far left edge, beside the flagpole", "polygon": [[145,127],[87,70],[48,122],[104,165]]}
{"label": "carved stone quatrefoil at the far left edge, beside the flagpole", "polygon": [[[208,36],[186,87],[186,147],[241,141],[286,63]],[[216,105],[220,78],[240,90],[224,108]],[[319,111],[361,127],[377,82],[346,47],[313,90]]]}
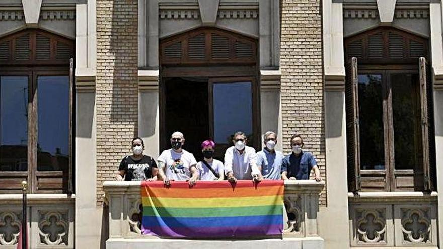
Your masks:
{"label": "carved stone quatrefoil at the far left edge, beside the flagpole", "polygon": [[14,245],[20,234],[19,215],[14,212],[0,213],[0,245]]}

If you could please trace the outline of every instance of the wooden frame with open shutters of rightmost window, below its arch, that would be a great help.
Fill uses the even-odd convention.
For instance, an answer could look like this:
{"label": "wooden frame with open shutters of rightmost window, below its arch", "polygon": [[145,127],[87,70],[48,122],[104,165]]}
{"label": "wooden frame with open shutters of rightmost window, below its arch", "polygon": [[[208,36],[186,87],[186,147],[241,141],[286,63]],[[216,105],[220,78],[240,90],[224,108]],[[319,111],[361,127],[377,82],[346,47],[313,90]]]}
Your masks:
{"label": "wooden frame with open shutters of rightmost window, below its arch", "polygon": [[[424,62],[422,62],[424,61]],[[420,58],[420,66],[426,67],[426,69],[420,69],[417,64],[413,65],[361,65],[357,69],[357,74],[378,74],[382,76],[382,98],[383,98],[383,126],[384,126],[384,152],[385,152],[385,169],[384,170],[363,170],[360,169],[360,162],[356,162],[355,165],[351,166],[352,169],[348,174],[350,174],[348,182],[350,191],[423,191],[423,190],[432,190],[434,188],[435,182],[435,165],[432,158],[432,155],[435,154],[434,146],[432,141],[429,140],[429,136],[432,135],[432,116],[429,116],[429,113],[423,112],[423,109],[428,110],[424,104],[420,104],[420,115],[421,120],[429,120],[424,122],[424,124],[419,125],[421,128],[417,128],[415,131],[416,137],[418,139],[419,136],[421,138],[420,143],[422,146],[427,146],[427,148],[422,148],[423,154],[423,164],[418,164],[414,169],[395,169],[395,145],[394,145],[394,122],[393,122],[393,103],[392,103],[392,87],[391,87],[391,76],[392,74],[398,73],[408,73],[408,74],[416,74],[419,76],[420,82],[416,82],[416,84],[424,87],[428,87],[426,80],[429,79],[429,75],[423,75],[428,73],[428,66],[425,65],[425,58]],[[348,79],[349,81],[349,79]],[[349,84],[347,82],[346,84]],[[358,84],[358,81],[357,81]],[[348,88],[349,86],[347,86]],[[419,86],[417,86],[419,88]],[[423,100],[422,93],[424,90],[415,90],[420,98],[420,101]],[[420,93],[418,91],[421,91]],[[358,95],[358,92],[357,92]],[[429,94],[428,94],[429,95]],[[347,102],[349,100],[346,100]],[[358,101],[358,97],[357,97]],[[356,106],[358,108],[358,105]],[[432,110],[432,109],[429,109]],[[357,120],[358,120],[358,112],[357,112]],[[350,123],[349,123],[350,124]],[[349,124],[347,129],[349,129]],[[357,126],[358,127],[358,126]],[[429,127],[429,128],[428,128]],[[359,132],[357,132],[359,133]],[[350,133],[348,133],[349,135]],[[426,135],[427,134],[427,135]],[[359,135],[356,135],[356,140],[354,141],[358,144]],[[349,142],[349,141],[348,141]],[[356,151],[359,151],[357,149]],[[356,152],[357,153],[357,152]],[[361,151],[359,151],[361,153]],[[359,156],[358,156],[359,160]],[[355,175],[354,175],[355,174]],[[412,182],[408,182],[410,180],[398,180],[397,177],[413,177]],[[380,182],[380,179],[383,179],[384,187],[378,186],[376,183],[372,184],[371,181]],[[355,182],[354,182],[355,179]],[[348,181],[349,181],[348,180]],[[406,181],[403,186],[398,185],[398,181]],[[366,186],[366,188],[361,187],[361,185]],[[373,186],[371,186],[373,185]],[[370,189],[370,188],[373,189]]]}

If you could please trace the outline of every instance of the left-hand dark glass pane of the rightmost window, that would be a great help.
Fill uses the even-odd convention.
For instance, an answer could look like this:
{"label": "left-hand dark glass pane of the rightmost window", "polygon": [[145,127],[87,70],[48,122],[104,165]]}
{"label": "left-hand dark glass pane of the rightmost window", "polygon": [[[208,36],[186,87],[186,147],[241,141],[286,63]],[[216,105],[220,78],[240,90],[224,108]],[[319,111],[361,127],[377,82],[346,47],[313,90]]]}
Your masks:
{"label": "left-hand dark glass pane of the rightmost window", "polygon": [[358,75],[358,106],[361,169],[385,169],[382,75]]}

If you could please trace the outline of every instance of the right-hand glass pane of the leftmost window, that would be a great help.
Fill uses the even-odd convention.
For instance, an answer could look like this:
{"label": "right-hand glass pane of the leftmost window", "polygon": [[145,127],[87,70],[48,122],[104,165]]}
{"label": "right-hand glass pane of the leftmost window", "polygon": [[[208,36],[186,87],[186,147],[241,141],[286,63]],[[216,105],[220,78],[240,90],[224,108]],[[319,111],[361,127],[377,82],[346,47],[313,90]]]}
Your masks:
{"label": "right-hand glass pane of the leftmost window", "polygon": [[69,156],[69,77],[38,77],[37,96],[37,170],[67,170]]}

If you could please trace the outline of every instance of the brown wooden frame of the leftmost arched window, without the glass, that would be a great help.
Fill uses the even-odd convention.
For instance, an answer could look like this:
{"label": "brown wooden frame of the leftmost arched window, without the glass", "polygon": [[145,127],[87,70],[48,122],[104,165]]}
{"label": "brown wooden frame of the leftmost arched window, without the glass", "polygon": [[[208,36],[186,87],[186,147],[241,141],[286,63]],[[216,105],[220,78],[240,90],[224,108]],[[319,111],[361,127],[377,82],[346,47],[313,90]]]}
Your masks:
{"label": "brown wooden frame of the leftmost arched window, without the glass", "polygon": [[[14,41],[16,38],[28,35],[29,40],[29,60],[15,60]],[[36,57],[36,37],[38,34],[44,35],[49,38],[50,53],[49,59],[37,59]],[[73,106],[75,103],[73,96],[73,59],[57,59],[57,43],[62,42],[70,49],[72,56],[75,51],[75,41],[64,38],[62,36],[52,34],[50,32],[41,29],[25,29],[14,34],[1,37],[0,43],[9,41],[10,51],[9,60],[0,61],[0,75],[1,76],[27,76],[28,77],[28,170],[27,171],[16,171],[16,172],[0,172],[0,180],[5,178],[22,178],[28,181],[28,193],[73,193],[73,147],[74,141],[72,139],[73,131]],[[69,138],[68,138],[68,170],[64,171],[37,171],[37,117],[38,117],[38,104],[37,104],[37,77],[38,76],[68,76],[69,77]],[[47,189],[38,189],[38,179],[39,178],[61,178],[62,188],[54,188],[58,183],[51,183],[51,181],[46,183]],[[4,181],[5,182],[5,181]],[[7,183],[5,183],[7,184]],[[20,185],[20,183],[18,183]],[[1,186],[1,184],[0,184]],[[52,187],[51,187],[52,186]],[[0,189],[0,194],[2,193],[21,193],[20,188],[14,188],[8,190],[8,188]]]}

